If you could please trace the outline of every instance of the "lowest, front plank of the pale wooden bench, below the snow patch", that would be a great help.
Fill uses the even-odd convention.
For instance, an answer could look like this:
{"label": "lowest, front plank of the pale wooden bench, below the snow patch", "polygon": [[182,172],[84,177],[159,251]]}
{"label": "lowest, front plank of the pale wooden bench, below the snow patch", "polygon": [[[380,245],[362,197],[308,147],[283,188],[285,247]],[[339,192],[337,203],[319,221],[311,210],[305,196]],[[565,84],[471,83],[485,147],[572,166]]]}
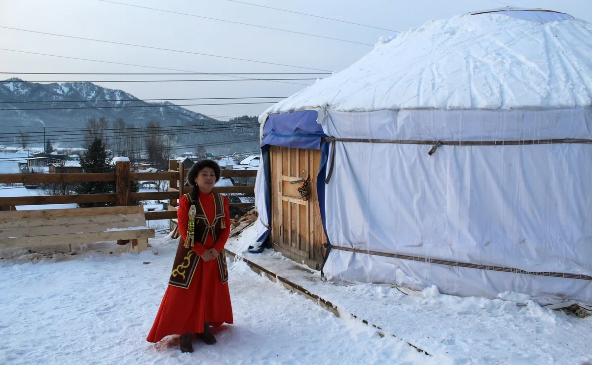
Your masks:
{"label": "lowest, front plank of the pale wooden bench, below the snow patch", "polygon": [[133,240],[155,237],[154,230],[127,230],[110,232],[53,234],[41,237],[0,238],[0,248],[37,247],[55,244],[91,243],[102,241]]}

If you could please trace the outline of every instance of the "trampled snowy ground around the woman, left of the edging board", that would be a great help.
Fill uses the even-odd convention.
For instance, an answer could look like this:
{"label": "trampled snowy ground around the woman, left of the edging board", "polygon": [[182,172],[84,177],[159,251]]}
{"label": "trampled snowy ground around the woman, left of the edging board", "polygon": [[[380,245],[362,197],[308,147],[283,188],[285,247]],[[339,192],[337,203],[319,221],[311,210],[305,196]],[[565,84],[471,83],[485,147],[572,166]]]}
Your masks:
{"label": "trampled snowy ground around the woman, left of the edging board", "polygon": [[147,343],[176,250],[166,235],[150,244],[141,254],[97,243],[36,263],[28,250],[0,261],[0,363],[450,363],[343,321],[243,262],[230,263],[234,324],[215,332],[216,345],[194,341],[182,354],[176,336]]}

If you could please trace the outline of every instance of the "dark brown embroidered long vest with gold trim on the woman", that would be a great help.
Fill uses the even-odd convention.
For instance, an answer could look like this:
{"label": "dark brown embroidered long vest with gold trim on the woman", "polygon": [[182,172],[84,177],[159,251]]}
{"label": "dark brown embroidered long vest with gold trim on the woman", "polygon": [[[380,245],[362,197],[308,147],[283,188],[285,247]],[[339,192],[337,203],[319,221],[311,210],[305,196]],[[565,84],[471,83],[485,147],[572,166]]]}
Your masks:
{"label": "dark brown embroidered long vest with gold trim on the woman", "polygon": [[[187,193],[185,198],[189,202],[189,221],[187,224],[186,240],[179,242],[173,270],[170,273],[169,285],[187,289],[191,284],[191,279],[195,273],[197,264],[200,262],[200,256],[196,254],[191,247],[196,244],[203,244],[211,235],[214,243],[220,237],[220,231],[226,228],[224,224],[224,196],[212,192],[214,196],[214,220],[208,221],[204,208],[201,205],[199,193]],[[218,270],[222,283],[228,281],[228,267],[226,264],[226,255],[224,251],[218,254]]]}

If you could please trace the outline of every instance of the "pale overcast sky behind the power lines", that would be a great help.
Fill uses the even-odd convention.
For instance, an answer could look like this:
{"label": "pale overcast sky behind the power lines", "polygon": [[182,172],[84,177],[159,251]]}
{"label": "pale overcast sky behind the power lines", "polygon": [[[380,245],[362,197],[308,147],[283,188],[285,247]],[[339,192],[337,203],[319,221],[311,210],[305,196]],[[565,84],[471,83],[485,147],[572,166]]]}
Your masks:
{"label": "pale overcast sky behind the power lines", "polygon": [[[290,11],[385,28],[362,27],[332,20],[290,14],[229,0],[114,0],[204,17],[244,22],[265,27],[323,35],[359,43],[375,44],[381,35],[418,27],[429,20],[449,18],[470,11],[504,7],[539,7],[567,12],[592,22],[590,0],[240,0]],[[128,7],[99,0],[0,0],[0,26],[74,35],[84,38],[139,44],[172,50],[289,64],[316,70],[339,71],[372,50],[372,46],[311,37],[309,35],[206,20],[188,15]],[[0,28],[0,48],[56,56],[78,57],[211,73],[316,72],[316,70],[230,60],[174,51],[142,49],[117,44],[75,40]],[[149,67],[124,66],[40,56],[0,50],[2,72],[166,72]],[[134,76],[18,76],[25,80],[134,79]],[[78,78],[77,78],[78,77]],[[135,76],[136,79],[170,79],[171,76]],[[189,76],[204,79],[205,76]],[[260,77],[260,76],[250,76]],[[274,77],[274,76],[271,76]],[[311,77],[311,76],[275,76]],[[314,76],[312,76],[314,77]],[[187,78],[179,77],[179,78]],[[220,79],[220,76],[213,78]],[[295,81],[310,85],[313,81]],[[269,81],[191,83],[100,83],[123,89],[140,99],[216,98],[232,96],[289,96],[304,85]],[[195,101],[200,102],[200,101]],[[181,104],[178,102],[177,104]],[[268,105],[188,106],[205,115],[258,115]]]}

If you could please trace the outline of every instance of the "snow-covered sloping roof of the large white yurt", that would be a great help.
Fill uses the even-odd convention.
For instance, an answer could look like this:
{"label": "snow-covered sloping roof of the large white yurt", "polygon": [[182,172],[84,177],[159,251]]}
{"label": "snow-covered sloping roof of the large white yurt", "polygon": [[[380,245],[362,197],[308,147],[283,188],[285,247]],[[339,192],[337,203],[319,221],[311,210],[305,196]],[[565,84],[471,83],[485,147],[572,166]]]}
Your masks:
{"label": "snow-covered sloping roof of the large white yurt", "polygon": [[361,60],[271,106],[303,109],[577,108],[592,105],[592,25],[502,9],[382,37]]}

